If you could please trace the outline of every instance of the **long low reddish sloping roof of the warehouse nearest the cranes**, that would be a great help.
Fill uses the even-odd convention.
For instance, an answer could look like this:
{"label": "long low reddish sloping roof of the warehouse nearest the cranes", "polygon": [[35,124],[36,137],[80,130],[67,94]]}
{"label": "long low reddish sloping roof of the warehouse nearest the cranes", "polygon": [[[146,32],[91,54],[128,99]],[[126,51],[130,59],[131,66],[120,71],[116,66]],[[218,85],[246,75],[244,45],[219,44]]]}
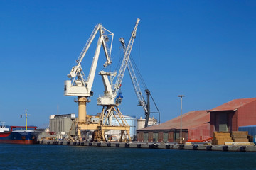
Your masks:
{"label": "long low reddish sloping roof of the warehouse nearest the cranes", "polygon": [[[203,125],[204,123],[210,122],[210,113],[209,110],[205,111],[190,111],[182,115],[182,128],[188,129],[193,128],[198,125]],[[179,129],[181,126],[181,116],[171,119],[160,125],[154,125],[147,128],[139,130],[170,130],[170,129]]]}

